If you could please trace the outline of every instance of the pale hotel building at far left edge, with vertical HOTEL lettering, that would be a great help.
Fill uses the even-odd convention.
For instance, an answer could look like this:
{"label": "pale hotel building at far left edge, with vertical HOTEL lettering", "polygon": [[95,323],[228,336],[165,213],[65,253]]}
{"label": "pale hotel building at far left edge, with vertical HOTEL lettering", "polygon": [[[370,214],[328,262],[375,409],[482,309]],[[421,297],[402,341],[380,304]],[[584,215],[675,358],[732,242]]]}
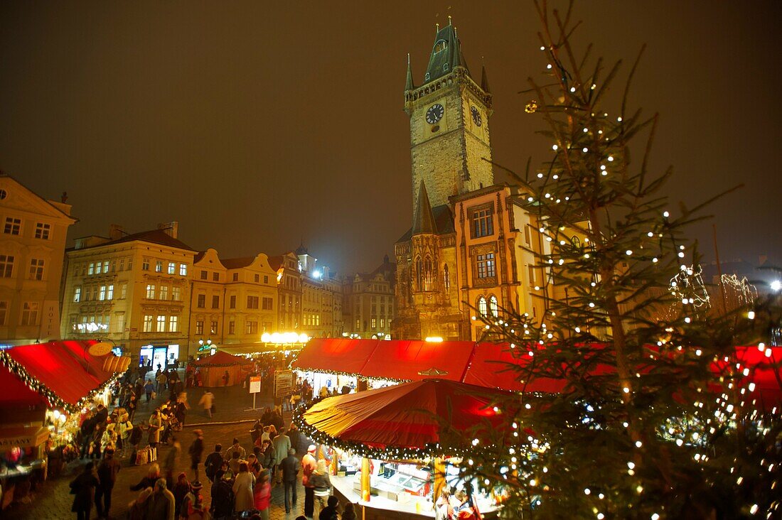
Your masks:
{"label": "pale hotel building at far left edge, with vertical HOTEL lettering", "polygon": [[70,205],[0,173],[0,343],[60,339],[60,278]]}

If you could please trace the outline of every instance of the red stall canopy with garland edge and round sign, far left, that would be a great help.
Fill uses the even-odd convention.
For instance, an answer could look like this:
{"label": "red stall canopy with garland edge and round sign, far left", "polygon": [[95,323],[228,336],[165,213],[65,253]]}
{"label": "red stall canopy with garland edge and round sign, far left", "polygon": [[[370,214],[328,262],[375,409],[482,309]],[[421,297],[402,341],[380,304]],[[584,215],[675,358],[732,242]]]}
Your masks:
{"label": "red stall canopy with garland edge and round sign, far left", "polygon": [[[0,352],[0,365],[17,382],[43,396],[50,407],[74,412],[112,382],[115,371],[107,368],[127,368],[129,358],[115,356],[110,346],[106,350],[104,344],[95,341],[14,346]],[[19,388],[5,376],[0,383],[2,393]],[[32,401],[29,393],[22,398]]]}

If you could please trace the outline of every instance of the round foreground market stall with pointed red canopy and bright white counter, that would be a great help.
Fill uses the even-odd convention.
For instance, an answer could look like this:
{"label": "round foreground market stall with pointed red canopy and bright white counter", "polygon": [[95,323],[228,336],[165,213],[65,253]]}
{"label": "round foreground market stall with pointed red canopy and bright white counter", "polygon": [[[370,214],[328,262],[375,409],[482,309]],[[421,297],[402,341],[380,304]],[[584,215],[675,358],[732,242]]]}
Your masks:
{"label": "round foreground market stall with pointed red canopy and bright white counter", "polygon": [[444,486],[466,490],[484,518],[495,518],[500,492],[479,493],[475,482],[461,479],[460,455],[469,447],[453,432],[469,431],[485,443],[505,436],[497,403],[516,406],[509,392],[427,379],[328,397],[294,421],[333,449],[335,494],[359,504],[367,520],[435,518]]}

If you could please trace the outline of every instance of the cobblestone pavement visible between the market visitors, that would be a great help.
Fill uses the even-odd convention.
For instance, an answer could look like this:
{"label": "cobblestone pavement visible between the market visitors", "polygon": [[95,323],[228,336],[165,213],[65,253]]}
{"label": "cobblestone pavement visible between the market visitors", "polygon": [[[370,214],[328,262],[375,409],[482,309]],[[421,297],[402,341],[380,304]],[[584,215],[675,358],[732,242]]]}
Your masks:
{"label": "cobblestone pavement visible between the market visitors", "polygon": [[[204,433],[204,458],[214,449],[214,444],[221,443],[224,448],[231,445],[231,440],[236,437],[242,446],[245,447],[248,452],[252,451],[252,443],[249,435],[249,429],[253,425],[253,421],[260,416],[261,411],[251,411],[247,408],[252,406],[253,398],[247,393],[246,389],[242,389],[240,386],[232,386],[228,388],[212,389],[216,396],[215,404],[217,407],[217,413],[213,418],[207,418],[203,410],[198,407],[198,401],[203,394],[203,389],[188,389],[188,401],[191,404],[191,410],[186,419],[185,428],[178,432],[177,438],[181,443],[181,455],[178,459],[178,473],[180,471],[186,471],[188,479],[193,479],[192,469],[189,468],[190,460],[187,454],[188,446],[194,439],[192,431],[196,428],[202,429]],[[144,401],[144,399],[142,399]],[[138,407],[136,413],[136,421],[140,422],[142,419],[148,418],[154,407],[158,406],[162,402],[162,397],[152,401],[152,403],[142,403]],[[260,396],[257,399],[256,405],[271,406],[271,399],[262,399]],[[285,414],[286,421],[289,421],[290,414]],[[286,423],[288,424],[288,423]],[[142,446],[145,446],[146,439],[143,440]],[[308,441],[301,439],[299,443],[300,457],[303,451],[306,452]],[[158,462],[162,464],[166,454],[171,448],[169,446],[160,446],[158,448]],[[114,486],[112,495],[112,506],[109,518],[126,518],[128,504],[130,504],[135,497],[138,496],[138,492],[129,490],[129,487],[135,485],[149,470],[149,464],[142,466],[131,465],[128,461],[128,457],[121,459],[122,468],[117,474],[117,483]],[[33,493],[33,500],[29,504],[16,503],[8,507],[5,511],[0,513],[0,518],[76,518],[76,514],[70,511],[70,506],[73,503],[73,496],[70,495],[70,487],[68,484],[79,472],[86,461],[74,461],[68,468],[63,471],[63,475],[56,479],[49,479],[38,487]],[[203,499],[204,504],[208,507],[211,503],[210,497],[210,482],[203,475],[203,464],[199,470],[199,478],[203,482]],[[270,518],[273,520],[282,520],[296,518],[297,515],[303,514],[304,503],[304,490],[299,482],[299,490],[297,491],[299,496],[298,504],[294,511],[289,514],[285,514],[283,489],[281,486],[274,486],[272,488],[272,499]],[[95,508],[92,509],[92,517],[95,518]],[[315,511],[317,518],[317,507]]]}

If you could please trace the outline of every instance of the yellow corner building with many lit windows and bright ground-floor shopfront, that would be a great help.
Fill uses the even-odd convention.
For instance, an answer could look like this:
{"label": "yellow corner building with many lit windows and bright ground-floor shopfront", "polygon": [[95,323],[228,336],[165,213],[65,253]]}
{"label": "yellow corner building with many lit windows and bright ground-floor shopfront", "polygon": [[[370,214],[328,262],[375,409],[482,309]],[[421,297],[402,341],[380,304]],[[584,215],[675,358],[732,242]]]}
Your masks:
{"label": "yellow corner building with many lit windows and bright ground-floor shopfront", "polygon": [[186,359],[195,254],[176,222],[77,238],[67,252],[63,338],[110,339],[153,368]]}

